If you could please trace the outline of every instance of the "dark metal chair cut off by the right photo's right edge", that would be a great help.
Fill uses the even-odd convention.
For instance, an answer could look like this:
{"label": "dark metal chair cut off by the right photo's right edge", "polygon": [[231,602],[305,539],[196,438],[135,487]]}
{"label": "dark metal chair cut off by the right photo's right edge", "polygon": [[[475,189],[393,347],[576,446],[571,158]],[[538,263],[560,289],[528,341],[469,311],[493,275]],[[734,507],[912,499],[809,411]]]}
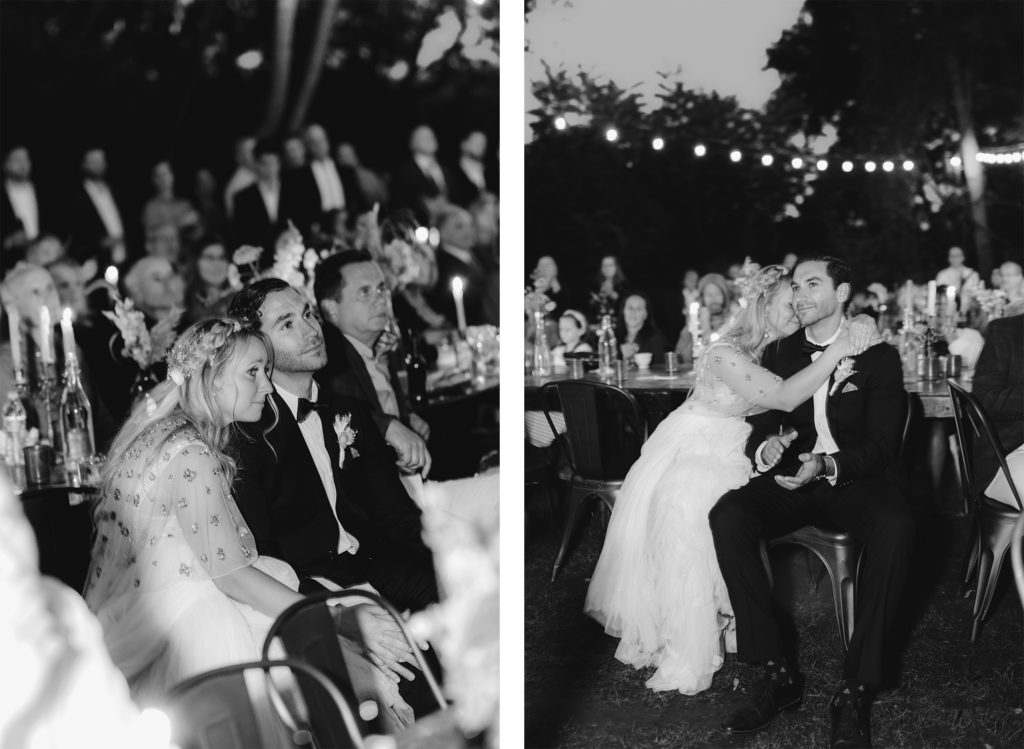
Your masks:
{"label": "dark metal chair cut off by the right photo's right edge", "polygon": [[[977,572],[977,590],[974,597],[974,622],[971,625],[971,641],[978,640],[981,623],[988,615],[992,605],[992,595],[999,581],[999,572],[1007,550],[1014,538],[1014,524],[1024,512],[1021,495],[1010,475],[1006,452],[999,436],[992,426],[985,409],[978,399],[965,390],[954,380],[946,380],[949,387],[949,398],[953,405],[953,420],[956,423],[956,435],[961,442],[959,461],[961,474],[964,477],[965,491],[975,501],[975,539],[968,559],[967,572],[964,575],[965,587],[970,585],[971,578]],[[979,476],[974,469],[975,448],[987,449],[994,453],[998,461],[998,469],[1002,471],[1010,485],[1017,507],[985,496],[986,482],[989,476]]]}

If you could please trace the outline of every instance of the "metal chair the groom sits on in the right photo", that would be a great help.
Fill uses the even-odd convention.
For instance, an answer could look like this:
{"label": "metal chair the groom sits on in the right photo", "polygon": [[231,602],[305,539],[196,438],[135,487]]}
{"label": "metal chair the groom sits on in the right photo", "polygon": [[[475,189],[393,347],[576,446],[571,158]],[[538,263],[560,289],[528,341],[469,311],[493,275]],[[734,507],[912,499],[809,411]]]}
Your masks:
{"label": "metal chair the groom sits on in the right photo", "polygon": [[[903,432],[900,436],[899,456],[902,458],[906,449],[907,434],[910,432],[910,420],[913,416],[911,396],[906,396],[906,411],[903,418]],[[768,579],[772,579],[771,564],[768,560],[768,549],[794,544],[807,549],[821,560],[833,588],[833,606],[836,609],[836,624],[839,626],[843,650],[849,650],[850,638],[853,636],[854,604],[857,593],[857,575],[860,572],[863,544],[849,533],[819,526],[804,526],[784,536],[762,541],[761,558],[768,571]]]}

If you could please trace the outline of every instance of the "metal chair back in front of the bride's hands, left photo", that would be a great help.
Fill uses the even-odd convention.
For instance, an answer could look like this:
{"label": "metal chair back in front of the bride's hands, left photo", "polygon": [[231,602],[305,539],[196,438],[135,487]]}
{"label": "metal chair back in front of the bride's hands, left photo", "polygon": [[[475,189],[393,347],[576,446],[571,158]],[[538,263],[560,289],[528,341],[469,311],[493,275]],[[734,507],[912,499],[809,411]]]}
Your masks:
{"label": "metal chair back in front of the bride's hands, left photo", "polygon": [[[323,671],[331,678],[346,700],[353,705],[356,704],[357,698],[348,676],[345,656],[338,642],[334,619],[327,607],[327,601],[338,598],[359,598],[384,609],[401,630],[438,707],[440,709],[447,707],[437,678],[420,652],[419,644],[410,634],[401,615],[390,602],[367,590],[329,590],[312,593],[307,595],[305,599],[288,607],[278,616],[267,631],[266,639],[263,641],[263,658],[269,658],[270,646],[275,637],[280,637],[289,657],[302,659]],[[301,682],[301,676],[299,680]],[[324,696],[312,695],[307,699],[323,701]],[[356,721],[362,735],[385,733],[376,717],[370,720],[364,720],[359,717],[356,718]],[[315,723],[313,727],[316,727]]]}

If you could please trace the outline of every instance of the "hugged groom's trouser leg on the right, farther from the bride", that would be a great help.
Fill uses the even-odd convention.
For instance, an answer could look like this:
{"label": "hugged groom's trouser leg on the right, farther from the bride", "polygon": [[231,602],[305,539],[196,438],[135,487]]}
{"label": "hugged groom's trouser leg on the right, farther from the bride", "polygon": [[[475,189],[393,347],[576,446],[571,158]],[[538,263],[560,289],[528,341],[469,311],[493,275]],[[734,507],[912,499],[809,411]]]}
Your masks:
{"label": "hugged groom's trouser leg on the right, farther from the bride", "polygon": [[843,677],[878,686],[886,637],[892,632],[909,574],[913,518],[902,492],[886,478],[834,491],[835,497],[821,502],[821,513],[864,545]]}

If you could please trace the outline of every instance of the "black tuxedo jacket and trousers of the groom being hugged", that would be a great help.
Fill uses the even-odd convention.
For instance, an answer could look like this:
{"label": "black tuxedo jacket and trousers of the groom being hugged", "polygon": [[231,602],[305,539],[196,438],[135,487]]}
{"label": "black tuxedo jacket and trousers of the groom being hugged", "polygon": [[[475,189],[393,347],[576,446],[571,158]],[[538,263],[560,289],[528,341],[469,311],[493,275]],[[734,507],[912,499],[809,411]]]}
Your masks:
{"label": "black tuxedo jacket and trousers of the groom being hugged", "polygon": [[[765,351],[762,366],[787,378],[811,363],[802,350],[803,330]],[[864,544],[858,577],[853,637],[844,677],[868,684],[882,682],[883,646],[906,581],[913,540],[913,521],[898,462],[906,409],[899,355],[888,344],[872,346],[854,359],[853,374],[833,392],[829,377],[825,403],[828,430],[839,450],[836,486],[812,481],[796,490],[775,483],[775,475],[795,475],[797,456],[813,451],[817,432],[813,399],[792,413],[769,411],[749,419],[752,457],[779,427],[798,435],[779,464],[740,489],[726,493],[712,509],[710,522],[719,567],[736,617],[740,660],[765,662],[790,650],[762,565],[760,543],[808,524],[847,531]]]}

